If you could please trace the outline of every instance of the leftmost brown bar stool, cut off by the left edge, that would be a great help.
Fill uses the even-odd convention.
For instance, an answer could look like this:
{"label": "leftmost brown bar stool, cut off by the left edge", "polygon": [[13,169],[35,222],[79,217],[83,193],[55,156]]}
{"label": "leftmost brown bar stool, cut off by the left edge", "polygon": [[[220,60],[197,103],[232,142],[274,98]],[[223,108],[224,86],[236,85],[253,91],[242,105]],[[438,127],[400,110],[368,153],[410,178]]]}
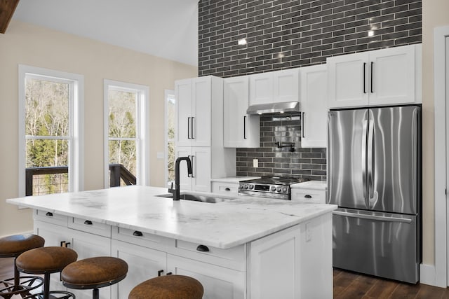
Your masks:
{"label": "leftmost brown bar stool, cut off by the left edge", "polygon": [[38,235],[11,235],[0,238],[0,258],[14,258],[14,277],[0,281],[0,297],[9,299],[13,295],[29,295],[29,291],[42,286],[39,276],[22,276],[15,265],[20,254],[29,249],[42,247],[45,239]]}

